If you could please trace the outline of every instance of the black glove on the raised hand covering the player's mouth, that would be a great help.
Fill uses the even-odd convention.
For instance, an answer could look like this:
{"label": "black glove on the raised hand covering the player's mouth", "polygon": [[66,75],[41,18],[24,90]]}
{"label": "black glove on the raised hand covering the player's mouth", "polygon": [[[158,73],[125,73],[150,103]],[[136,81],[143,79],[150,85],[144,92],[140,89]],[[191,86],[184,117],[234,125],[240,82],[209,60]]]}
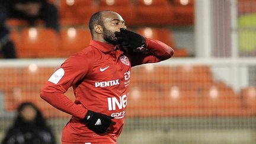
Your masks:
{"label": "black glove on the raised hand covering the player's mouth", "polygon": [[137,47],[145,47],[146,39],[140,34],[134,33],[133,31],[120,28],[120,32],[116,31],[115,36],[119,40],[121,46],[130,49],[136,49]]}

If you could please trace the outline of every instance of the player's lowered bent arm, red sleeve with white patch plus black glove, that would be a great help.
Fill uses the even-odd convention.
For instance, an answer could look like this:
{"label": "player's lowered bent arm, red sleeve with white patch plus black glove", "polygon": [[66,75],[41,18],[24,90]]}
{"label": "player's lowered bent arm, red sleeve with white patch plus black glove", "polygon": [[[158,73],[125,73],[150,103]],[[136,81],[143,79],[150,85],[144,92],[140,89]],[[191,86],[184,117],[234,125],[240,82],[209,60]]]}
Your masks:
{"label": "player's lowered bent arm, red sleeve with white patch plus black glove", "polygon": [[[89,57],[91,57],[91,55],[69,57],[69,59],[49,78],[46,87],[44,87],[40,93],[40,97],[53,105],[53,107],[78,117],[81,121],[85,122],[88,129],[101,134],[105,133],[108,127],[111,126],[111,119],[113,119],[113,117],[87,110],[79,101],[73,103],[64,94],[69,87],[77,87],[77,84],[86,77],[91,68],[89,65],[92,63],[92,59]],[[76,97],[79,97],[79,95],[76,95]],[[86,97],[86,95],[80,95],[80,97]],[[100,125],[97,124],[99,119],[101,120]]]}

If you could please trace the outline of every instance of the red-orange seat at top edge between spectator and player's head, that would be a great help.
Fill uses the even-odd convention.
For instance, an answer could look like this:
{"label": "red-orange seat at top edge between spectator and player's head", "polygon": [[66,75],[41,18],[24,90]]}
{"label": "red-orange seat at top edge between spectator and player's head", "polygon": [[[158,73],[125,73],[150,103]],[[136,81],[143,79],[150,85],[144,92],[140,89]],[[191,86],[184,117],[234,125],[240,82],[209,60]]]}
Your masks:
{"label": "red-orange seat at top edge between spectator and player's head", "polygon": [[59,6],[60,24],[88,24],[89,18],[97,10],[97,5],[91,0],[62,0]]}

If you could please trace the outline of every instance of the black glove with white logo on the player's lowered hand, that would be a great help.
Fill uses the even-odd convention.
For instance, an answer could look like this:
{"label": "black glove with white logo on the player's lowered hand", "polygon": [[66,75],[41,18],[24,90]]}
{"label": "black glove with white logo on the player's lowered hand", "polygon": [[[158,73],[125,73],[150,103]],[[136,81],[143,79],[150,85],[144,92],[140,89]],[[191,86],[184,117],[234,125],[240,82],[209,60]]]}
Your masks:
{"label": "black glove with white logo on the player's lowered hand", "polygon": [[97,134],[103,134],[112,124],[111,119],[114,119],[114,117],[88,110],[85,116],[85,123],[88,129]]}

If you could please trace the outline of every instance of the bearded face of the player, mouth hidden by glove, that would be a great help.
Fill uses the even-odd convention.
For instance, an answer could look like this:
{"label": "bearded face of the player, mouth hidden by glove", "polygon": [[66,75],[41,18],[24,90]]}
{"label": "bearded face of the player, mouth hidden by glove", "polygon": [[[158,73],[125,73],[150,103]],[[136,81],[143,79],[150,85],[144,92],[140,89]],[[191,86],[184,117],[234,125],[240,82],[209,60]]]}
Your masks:
{"label": "bearded face of the player, mouth hidden by glove", "polygon": [[113,45],[119,44],[114,32],[120,31],[120,28],[126,28],[123,18],[116,12],[106,12],[102,18],[104,40]]}

